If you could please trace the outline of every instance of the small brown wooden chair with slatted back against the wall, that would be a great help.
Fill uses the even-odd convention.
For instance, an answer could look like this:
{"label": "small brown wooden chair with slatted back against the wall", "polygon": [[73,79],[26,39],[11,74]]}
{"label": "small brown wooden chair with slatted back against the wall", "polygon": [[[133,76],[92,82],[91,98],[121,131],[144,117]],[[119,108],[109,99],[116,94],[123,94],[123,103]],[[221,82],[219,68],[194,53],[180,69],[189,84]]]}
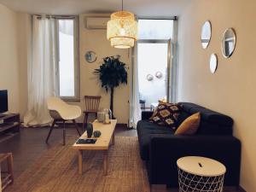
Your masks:
{"label": "small brown wooden chair with slatted back against the wall", "polygon": [[83,131],[84,131],[84,125],[85,124],[87,125],[87,120],[90,113],[94,114],[95,118],[97,118],[97,113],[99,110],[101,98],[102,96],[84,96],[85,109],[84,109]]}

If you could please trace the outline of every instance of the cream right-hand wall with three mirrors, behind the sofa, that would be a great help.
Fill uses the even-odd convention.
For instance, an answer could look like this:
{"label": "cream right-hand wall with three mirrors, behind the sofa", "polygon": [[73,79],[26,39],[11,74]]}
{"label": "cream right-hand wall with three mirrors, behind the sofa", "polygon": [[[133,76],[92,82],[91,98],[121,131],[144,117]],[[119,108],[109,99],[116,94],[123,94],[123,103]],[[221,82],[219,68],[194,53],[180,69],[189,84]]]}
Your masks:
{"label": "cream right-hand wall with three mirrors, behind the sofa", "polygon": [[[178,101],[195,102],[235,120],[241,140],[241,186],[256,189],[256,2],[253,0],[194,0],[179,18]],[[212,40],[201,48],[201,26],[212,22]],[[237,44],[230,59],[221,53],[224,30],[236,30]],[[210,73],[209,58],[218,55],[218,70]]]}

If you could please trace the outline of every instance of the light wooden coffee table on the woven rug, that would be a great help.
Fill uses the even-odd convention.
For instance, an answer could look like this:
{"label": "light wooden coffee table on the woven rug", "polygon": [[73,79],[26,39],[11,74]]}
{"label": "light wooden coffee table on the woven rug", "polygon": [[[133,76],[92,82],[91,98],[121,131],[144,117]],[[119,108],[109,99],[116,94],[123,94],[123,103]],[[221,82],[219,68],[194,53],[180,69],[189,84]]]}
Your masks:
{"label": "light wooden coffee table on the woven rug", "polygon": [[[111,120],[111,124],[104,125],[97,120],[93,122],[93,131],[101,131],[101,137],[96,138],[97,141],[94,144],[73,144],[73,149],[79,151],[79,173],[83,174],[83,151],[84,150],[102,150],[103,153],[103,163],[104,163],[104,174],[108,174],[108,148],[111,144],[114,144],[114,129],[117,123],[116,119]],[[79,137],[81,139],[86,139],[87,132]],[[92,137],[93,138],[93,137]]]}

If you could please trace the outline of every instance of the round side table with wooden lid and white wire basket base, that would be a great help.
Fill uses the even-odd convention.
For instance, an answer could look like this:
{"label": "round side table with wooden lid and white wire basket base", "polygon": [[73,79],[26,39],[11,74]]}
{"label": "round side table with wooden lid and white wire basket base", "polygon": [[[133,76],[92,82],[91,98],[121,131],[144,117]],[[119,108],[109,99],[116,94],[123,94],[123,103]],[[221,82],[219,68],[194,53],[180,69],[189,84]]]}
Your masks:
{"label": "round side table with wooden lid and white wire basket base", "polygon": [[179,192],[222,192],[226,167],[206,157],[186,156],[177,160]]}

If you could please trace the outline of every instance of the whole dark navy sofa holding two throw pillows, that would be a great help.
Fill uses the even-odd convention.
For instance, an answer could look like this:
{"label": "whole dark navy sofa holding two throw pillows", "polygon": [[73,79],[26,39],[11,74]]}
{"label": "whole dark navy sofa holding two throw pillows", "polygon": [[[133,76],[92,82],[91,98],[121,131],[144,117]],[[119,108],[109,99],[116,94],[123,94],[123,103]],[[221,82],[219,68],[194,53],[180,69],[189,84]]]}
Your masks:
{"label": "whole dark navy sofa holding two throw pillows", "polygon": [[224,185],[238,186],[241,143],[232,136],[233,119],[194,103],[180,104],[177,125],[191,114],[201,113],[201,124],[193,136],[175,136],[170,127],[149,122],[152,112],[143,112],[137,123],[140,154],[147,165],[149,183],[177,187],[177,159],[199,155],[222,162],[227,168]]}

